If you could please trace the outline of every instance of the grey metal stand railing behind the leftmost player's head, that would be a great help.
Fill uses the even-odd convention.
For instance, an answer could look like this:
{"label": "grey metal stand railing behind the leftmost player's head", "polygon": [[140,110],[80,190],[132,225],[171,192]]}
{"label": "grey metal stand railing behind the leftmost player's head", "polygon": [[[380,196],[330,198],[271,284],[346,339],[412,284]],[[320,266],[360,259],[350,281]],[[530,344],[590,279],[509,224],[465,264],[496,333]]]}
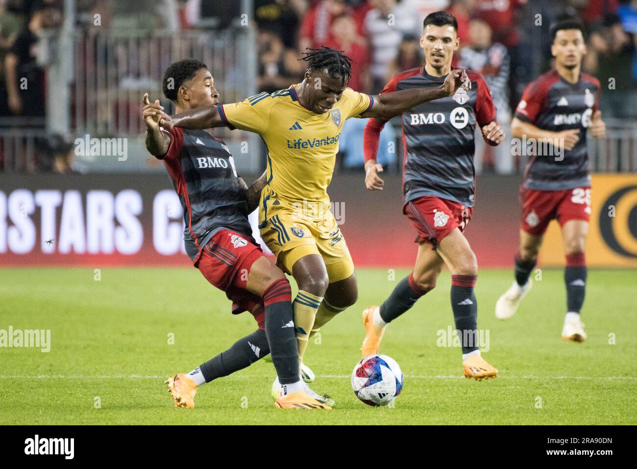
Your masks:
{"label": "grey metal stand railing behind the leftmost player's head", "polygon": [[[256,70],[254,32],[250,27],[229,27],[221,31],[181,31],[152,34],[136,31],[103,33],[94,30],[75,34],[75,80],[73,80],[71,126],[74,135],[128,138],[131,158],[125,165],[117,159],[85,159],[88,170],[131,170],[146,168],[143,148],[145,125],[141,100],[159,99],[168,112],[172,103],[162,93],[164,70],[185,58],[201,59],[215,78],[222,102],[241,101],[255,94]],[[233,151],[235,160],[247,170],[258,171],[258,137],[227,129],[215,131]],[[248,142],[248,145],[241,145]],[[250,149],[250,157],[246,154]],[[245,161],[241,161],[244,156]]]}

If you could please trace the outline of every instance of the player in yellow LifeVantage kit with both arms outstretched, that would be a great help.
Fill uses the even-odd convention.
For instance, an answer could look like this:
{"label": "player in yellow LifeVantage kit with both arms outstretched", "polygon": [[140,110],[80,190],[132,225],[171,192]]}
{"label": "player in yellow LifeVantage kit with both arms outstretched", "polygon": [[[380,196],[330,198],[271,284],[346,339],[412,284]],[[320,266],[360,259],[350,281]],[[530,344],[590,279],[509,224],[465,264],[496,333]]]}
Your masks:
{"label": "player in yellow LifeVantage kit with both arms outstretched", "polygon": [[452,96],[468,80],[452,70],[436,88],[412,88],[370,96],[347,87],[349,57],[329,47],[308,49],[303,81],[240,103],[196,108],[162,126],[206,129],[227,126],[258,133],[268,147],[268,185],[261,192],[261,237],[277,264],[296,280],[294,325],[299,359],[311,332],[352,306],[358,288],[343,234],[330,212],[338,139],[345,119],[391,117],[421,103]]}

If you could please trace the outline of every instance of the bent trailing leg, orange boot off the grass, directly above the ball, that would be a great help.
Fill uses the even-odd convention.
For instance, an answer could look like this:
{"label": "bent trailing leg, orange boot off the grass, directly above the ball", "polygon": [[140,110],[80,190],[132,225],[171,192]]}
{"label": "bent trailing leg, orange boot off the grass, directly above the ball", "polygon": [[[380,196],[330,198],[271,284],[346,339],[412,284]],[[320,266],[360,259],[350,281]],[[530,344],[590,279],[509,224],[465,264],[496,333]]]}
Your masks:
{"label": "bent trailing leg, orange boot off the grass, directly above the ball", "polygon": [[418,299],[436,287],[443,260],[428,242],[421,242],[413,271],[399,281],[380,307],[369,306],[363,313],[365,339],[362,343],[362,357],[378,354],[380,341],[387,325],[412,308]]}

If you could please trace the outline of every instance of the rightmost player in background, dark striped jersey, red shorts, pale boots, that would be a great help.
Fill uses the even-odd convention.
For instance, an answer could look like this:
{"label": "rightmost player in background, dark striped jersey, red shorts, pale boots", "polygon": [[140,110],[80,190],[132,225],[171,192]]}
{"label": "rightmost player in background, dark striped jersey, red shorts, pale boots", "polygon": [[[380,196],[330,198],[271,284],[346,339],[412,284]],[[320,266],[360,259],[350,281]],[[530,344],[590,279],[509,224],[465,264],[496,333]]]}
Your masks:
{"label": "rightmost player in background, dark striped jersey, red shorts, pale boots", "polygon": [[586,54],[582,26],[575,19],[563,20],[551,28],[551,34],[555,70],[527,86],[512,122],[513,137],[547,144],[536,145],[524,173],[515,281],[497,301],[496,316],[513,316],[529,292],[529,276],[538,259],[542,237],[548,223],[557,220],[566,254],[562,339],[582,342],[586,333],[580,309],[586,289],[584,251],[590,216],[586,134],[589,130],[592,137],[604,137],[606,126],[598,109],[599,80],[580,72]]}

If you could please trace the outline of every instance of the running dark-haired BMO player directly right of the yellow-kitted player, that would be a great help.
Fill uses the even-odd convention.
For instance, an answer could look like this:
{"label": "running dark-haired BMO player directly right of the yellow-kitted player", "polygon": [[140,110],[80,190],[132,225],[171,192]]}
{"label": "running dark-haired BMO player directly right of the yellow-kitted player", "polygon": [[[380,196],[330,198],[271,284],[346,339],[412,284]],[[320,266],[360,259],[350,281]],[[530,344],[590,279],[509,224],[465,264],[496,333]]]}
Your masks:
{"label": "running dark-haired BMO player directly right of the yellow-kitted player", "polygon": [[[422,68],[399,73],[381,94],[413,87],[440,86],[451,70],[459,48],[458,26],[445,11],[424,20],[420,45],[425,54]],[[366,336],[361,352],[378,353],[387,324],[436,286],[443,264],[452,274],[451,307],[455,329],[462,343],[462,365],[467,378],[496,378],[497,369],[487,363],[478,348],[477,302],[473,287],[478,274],[476,257],[462,232],[471,219],[475,189],[473,154],[475,126],[490,145],[499,145],[504,133],[496,123],[496,108],[489,87],[475,71],[453,96],[413,107],[402,113],[403,212],[418,232],[418,255],[413,272],[399,281],[389,298],[363,311]],[[370,119],[364,131],[365,184],[382,190],[376,163],[380,131],[389,119]]]}

